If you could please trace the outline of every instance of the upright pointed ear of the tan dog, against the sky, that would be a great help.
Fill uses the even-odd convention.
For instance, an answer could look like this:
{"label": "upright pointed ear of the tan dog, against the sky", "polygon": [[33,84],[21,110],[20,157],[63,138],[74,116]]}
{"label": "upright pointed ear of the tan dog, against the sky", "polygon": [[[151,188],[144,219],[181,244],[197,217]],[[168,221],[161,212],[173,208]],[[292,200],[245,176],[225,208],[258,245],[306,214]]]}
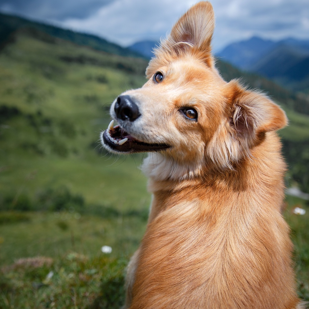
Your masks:
{"label": "upright pointed ear of the tan dog, against the sky", "polygon": [[198,2],[177,21],[169,36],[155,50],[155,57],[162,59],[168,55],[175,58],[190,50],[212,66],[210,43],[213,33],[213,8],[208,1]]}

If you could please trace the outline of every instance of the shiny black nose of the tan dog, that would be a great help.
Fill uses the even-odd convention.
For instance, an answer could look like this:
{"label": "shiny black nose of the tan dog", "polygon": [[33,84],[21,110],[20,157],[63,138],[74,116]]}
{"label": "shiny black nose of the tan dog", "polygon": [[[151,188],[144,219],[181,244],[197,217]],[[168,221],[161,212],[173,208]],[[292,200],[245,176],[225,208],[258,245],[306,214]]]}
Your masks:
{"label": "shiny black nose of the tan dog", "polygon": [[114,110],[117,118],[122,120],[134,121],[141,116],[138,106],[133,102],[129,95],[120,95],[117,98]]}

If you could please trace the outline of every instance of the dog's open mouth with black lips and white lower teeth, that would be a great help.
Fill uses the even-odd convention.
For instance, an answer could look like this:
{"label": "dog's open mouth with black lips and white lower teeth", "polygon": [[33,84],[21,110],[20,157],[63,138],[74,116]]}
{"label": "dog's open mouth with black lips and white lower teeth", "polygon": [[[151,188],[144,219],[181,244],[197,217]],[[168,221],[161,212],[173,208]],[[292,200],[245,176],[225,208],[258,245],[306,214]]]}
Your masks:
{"label": "dog's open mouth with black lips and white lower teeth", "polygon": [[169,148],[167,144],[145,143],[133,138],[129,133],[125,132],[119,125],[113,127],[112,120],[108,128],[103,132],[102,139],[105,145],[108,145],[112,150],[124,153],[134,152],[149,152],[158,151]]}

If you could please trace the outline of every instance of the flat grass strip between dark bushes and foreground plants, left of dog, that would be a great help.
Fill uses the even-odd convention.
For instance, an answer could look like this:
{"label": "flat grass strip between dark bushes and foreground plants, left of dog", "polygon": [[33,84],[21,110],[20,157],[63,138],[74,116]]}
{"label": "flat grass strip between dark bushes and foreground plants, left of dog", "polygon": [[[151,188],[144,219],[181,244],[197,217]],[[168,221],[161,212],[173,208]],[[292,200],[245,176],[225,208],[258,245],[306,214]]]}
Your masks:
{"label": "flat grass strip between dark bushes and foreground plants, left of dog", "polygon": [[[120,214],[114,218],[81,215],[77,212],[0,213],[0,265],[10,265],[24,257],[59,258],[74,251],[96,256],[101,247],[112,247],[112,257],[130,256],[137,249],[146,226],[145,216]],[[15,222],[14,222],[14,221]],[[1,221],[0,221],[1,222]],[[3,221],[2,221],[3,222]]]}

